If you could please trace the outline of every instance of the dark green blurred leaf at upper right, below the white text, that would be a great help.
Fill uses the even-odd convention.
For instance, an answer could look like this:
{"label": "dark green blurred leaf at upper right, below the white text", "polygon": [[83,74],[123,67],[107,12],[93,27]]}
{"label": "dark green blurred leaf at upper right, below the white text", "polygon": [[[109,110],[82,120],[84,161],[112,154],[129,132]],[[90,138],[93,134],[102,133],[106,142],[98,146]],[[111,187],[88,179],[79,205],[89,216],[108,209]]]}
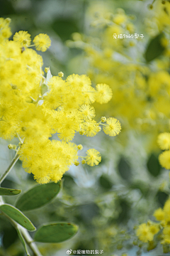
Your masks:
{"label": "dark green blurred leaf at upper right, below the white text", "polygon": [[145,59],[147,62],[154,60],[155,58],[162,55],[165,50],[165,47],[162,46],[162,38],[164,37],[163,33],[159,33],[156,37],[152,38],[147,46],[147,50],[145,52]]}

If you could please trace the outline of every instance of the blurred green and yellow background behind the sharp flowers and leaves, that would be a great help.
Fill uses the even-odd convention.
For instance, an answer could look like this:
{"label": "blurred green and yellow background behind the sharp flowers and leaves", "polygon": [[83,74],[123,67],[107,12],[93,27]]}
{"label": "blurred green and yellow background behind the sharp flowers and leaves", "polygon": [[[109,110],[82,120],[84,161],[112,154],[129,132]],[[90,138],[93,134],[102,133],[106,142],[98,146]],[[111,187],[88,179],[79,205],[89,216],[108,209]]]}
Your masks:
{"label": "blurred green and yellow background behind the sharp flowers and leaves", "polygon": [[[52,75],[87,74],[93,85],[110,85],[113,100],[95,105],[96,120],[116,117],[122,123],[113,138],[103,132],[93,138],[77,134],[74,142],[83,144],[82,154],[94,147],[101,164],[72,166],[57,198],[26,212],[36,226],[58,220],[79,225],[67,242],[38,244],[42,255],[62,256],[69,249],[164,255],[159,242],[151,250],[137,240],[135,227],[154,219],[154,210],[169,197],[169,171],[159,164],[157,145],[157,135],[169,132],[169,1],[1,0],[0,6],[0,16],[11,18],[13,34],[50,36],[52,45],[40,54]],[[115,39],[113,33],[144,37]],[[1,172],[13,158],[8,143],[1,139]],[[2,186],[26,191],[35,184],[18,161]],[[14,202],[6,197],[6,203]],[[16,230],[0,221],[0,255],[26,255]]]}

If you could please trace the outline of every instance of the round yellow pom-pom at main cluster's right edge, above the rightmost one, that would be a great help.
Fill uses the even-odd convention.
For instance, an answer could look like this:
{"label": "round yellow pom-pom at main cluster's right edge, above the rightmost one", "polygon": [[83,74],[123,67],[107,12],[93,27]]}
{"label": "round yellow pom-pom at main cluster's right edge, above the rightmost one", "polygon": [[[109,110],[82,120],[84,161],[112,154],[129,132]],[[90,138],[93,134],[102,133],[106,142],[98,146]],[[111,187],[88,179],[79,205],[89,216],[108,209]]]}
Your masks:
{"label": "round yellow pom-pom at main cluster's right edge, above the rightmost one", "polygon": [[107,103],[112,98],[112,90],[106,84],[98,84],[96,85],[96,102],[98,103]]}

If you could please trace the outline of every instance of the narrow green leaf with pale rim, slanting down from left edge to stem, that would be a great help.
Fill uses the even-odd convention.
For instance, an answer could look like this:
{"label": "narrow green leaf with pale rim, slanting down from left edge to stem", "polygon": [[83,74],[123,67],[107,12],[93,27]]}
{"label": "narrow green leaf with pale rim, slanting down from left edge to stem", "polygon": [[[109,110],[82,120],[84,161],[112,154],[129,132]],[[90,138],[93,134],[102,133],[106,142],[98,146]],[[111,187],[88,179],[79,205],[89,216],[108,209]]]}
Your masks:
{"label": "narrow green leaf with pale rim, slanting down from left edge to stem", "polygon": [[31,223],[30,220],[14,206],[11,206],[9,204],[3,204],[0,206],[0,210],[6,213],[6,215],[15,220],[18,224],[22,225],[23,228],[26,228],[30,231],[36,230],[33,223]]}

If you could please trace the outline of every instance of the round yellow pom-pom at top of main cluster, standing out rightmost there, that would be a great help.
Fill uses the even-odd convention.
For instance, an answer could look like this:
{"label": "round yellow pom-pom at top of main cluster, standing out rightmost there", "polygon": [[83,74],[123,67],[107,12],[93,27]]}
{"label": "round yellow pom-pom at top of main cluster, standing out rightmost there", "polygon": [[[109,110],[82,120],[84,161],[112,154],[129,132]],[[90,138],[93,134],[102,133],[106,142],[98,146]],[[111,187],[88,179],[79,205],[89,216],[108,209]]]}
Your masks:
{"label": "round yellow pom-pom at top of main cluster, standing out rightmost there", "polygon": [[36,50],[45,51],[50,47],[51,40],[47,34],[40,33],[38,36],[35,36],[33,43],[35,43]]}

